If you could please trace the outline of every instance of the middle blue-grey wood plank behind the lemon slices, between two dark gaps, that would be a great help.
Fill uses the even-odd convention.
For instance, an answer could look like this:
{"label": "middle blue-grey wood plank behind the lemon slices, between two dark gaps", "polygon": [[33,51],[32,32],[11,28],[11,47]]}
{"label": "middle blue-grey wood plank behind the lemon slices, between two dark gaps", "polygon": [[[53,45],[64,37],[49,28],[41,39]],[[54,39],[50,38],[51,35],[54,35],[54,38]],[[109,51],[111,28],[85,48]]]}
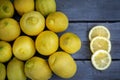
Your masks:
{"label": "middle blue-grey wood plank behind the lemon slices, between two dark gaps", "polygon": [[[77,34],[81,41],[82,41],[82,47],[81,49],[76,52],[76,54],[73,54],[72,56],[74,59],[90,59],[91,58],[91,51],[89,48],[90,42],[88,40],[88,34],[90,29],[95,25],[104,25],[106,26],[111,33],[111,43],[112,43],[112,49],[111,49],[111,55],[112,59],[120,59],[120,23],[70,23],[69,28],[65,32],[73,32]],[[63,33],[65,33],[63,32]],[[63,33],[60,33],[59,36],[61,36]]]}

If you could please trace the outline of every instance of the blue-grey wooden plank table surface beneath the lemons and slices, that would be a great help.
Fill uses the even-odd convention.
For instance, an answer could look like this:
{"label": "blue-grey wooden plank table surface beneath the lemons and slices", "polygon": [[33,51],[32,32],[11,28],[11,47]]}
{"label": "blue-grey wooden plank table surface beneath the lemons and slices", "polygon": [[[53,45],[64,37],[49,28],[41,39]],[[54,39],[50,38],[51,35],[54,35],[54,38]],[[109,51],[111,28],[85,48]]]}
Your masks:
{"label": "blue-grey wooden plank table surface beneath the lemons and slices", "polygon": [[[77,34],[82,40],[82,47],[72,55],[78,68],[75,76],[62,79],[53,75],[50,80],[120,80],[120,0],[56,0],[56,2],[57,11],[64,12],[69,18],[69,28],[65,32]],[[112,64],[104,71],[96,70],[91,63],[88,33],[95,25],[104,25],[111,32]]]}

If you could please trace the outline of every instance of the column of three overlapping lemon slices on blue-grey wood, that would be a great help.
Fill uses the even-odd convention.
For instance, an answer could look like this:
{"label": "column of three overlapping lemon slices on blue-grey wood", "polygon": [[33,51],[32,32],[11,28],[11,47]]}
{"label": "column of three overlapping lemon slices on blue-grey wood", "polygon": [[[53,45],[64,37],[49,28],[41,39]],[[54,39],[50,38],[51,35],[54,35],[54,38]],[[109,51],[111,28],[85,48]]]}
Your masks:
{"label": "column of three overlapping lemon slices on blue-grey wood", "polygon": [[97,70],[105,70],[111,64],[110,31],[105,26],[95,26],[89,32],[91,61]]}

